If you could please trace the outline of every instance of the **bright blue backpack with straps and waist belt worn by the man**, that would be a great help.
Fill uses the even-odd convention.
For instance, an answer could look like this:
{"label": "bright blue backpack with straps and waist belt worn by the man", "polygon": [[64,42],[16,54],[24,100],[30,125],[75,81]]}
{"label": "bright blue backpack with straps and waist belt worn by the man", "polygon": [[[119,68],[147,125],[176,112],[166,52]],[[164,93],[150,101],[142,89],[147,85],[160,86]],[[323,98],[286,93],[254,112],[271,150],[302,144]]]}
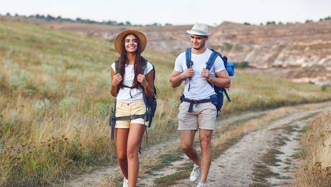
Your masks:
{"label": "bright blue backpack with straps and waist belt worn by the man", "polygon": [[[206,62],[206,69],[210,70],[210,68],[214,64],[216,58],[219,56],[222,59],[222,61],[224,63],[224,67],[225,67],[226,71],[228,72],[229,76],[233,76],[234,75],[233,62],[227,62],[227,57],[225,57],[225,56],[222,57],[222,55],[220,53],[218,53],[217,51],[215,51],[213,49],[210,49],[210,50],[212,51],[212,54],[210,55],[210,57],[208,59],[208,62]],[[185,56],[186,56],[186,66],[187,66],[187,68],[190,68],[192,63],[193,63],[191,61],[191,48],[186,49]],[[225,88],[221,88],[221,87],[218,87],[216,85],[213,85],[209,81],[207,81],[207,82],[210,84],[210,86],[212,86],[214,88],[214,91],[216,93],[214,95],[211,95],[210,99],[202,99],[202,100],[196,101],[196,100],[186,99],[184,94],[182,94],[180,96],[180,101],[181,102],[185,101],[185,102],[190,102],[191,103],[190,106],[189,106],[188,112],[192,112],[193,104],[212,102],[215,105],[216,111],[218,113],[218,111],[221,111],[221,108],[223,106],[223,98],[224,98],[223,93],[225,94],[227,100],[229,102],[231,102],[231,100],[229,98],[229,95],[227,94]],[[189,91],[189,87],[190,86],[188,86],[188,91]]]}

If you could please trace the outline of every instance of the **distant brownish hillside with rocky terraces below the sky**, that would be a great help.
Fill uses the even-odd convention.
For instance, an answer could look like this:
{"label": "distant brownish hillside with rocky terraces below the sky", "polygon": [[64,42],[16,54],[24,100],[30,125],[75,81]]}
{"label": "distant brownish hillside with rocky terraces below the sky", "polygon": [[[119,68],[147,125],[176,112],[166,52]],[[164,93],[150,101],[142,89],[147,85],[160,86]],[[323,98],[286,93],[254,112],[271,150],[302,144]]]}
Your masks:
{"label": "distant brownish hillside with rocky terraces below the sky", "polygon": [[[146,34],[148,49],[173,55],[190,47],[185,31],[192,27],[60,23],[18,16],[1,16],[1,19],[45,25],[109,41],[113,41],[124,29],[138,29]],[[289,78],[296,82],[331,85],[331,20],[281,25],[223,22],[217,27],[209,27],[209,32],[212,35],[207,47],[221,52],[233,62],[248,62],[249,66],[255,67],[247,71]]]}

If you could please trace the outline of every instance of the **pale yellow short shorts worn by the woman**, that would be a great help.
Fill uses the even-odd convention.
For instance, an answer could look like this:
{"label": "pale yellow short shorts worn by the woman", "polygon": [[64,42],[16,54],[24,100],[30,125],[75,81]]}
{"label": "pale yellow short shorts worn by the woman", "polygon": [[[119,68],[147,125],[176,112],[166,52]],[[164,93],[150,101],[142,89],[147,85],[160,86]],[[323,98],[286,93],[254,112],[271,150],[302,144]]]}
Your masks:
{"label": "pale yellow short shorts worn by the woman", "polygon": [[[131,103],[123,103],[121,101],[116,101],[116,117],[121,116],[130,116],[134,114],[145,114],[146,106],[144,99],[139,99]],[[134,120],[121,120],[116,121],[115,128],[130,128],[130,124],[143,124],[148,125],[148,122],[145,123],[145,120],[142,118]]]}

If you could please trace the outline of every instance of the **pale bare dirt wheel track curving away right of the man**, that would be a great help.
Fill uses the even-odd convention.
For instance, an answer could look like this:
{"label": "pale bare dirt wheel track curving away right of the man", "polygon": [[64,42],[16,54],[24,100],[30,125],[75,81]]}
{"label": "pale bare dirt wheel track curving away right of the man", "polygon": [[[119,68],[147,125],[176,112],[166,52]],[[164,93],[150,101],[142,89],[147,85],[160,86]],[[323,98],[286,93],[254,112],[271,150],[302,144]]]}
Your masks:
{"label": "pale bare dirt wheel track curving away right of the man", "polygon": [[[280,119],[276,119],[271,123],[268,123],[263,129],[252,131],[246,134],[236,144],[231,146],[217,159],[212,161],[208,174],[207,186],[249,186],[249,184],[253,183],[251,180],[253,177],[253,165],[259,161],[259,158],[265,154],[268,149],[274,148],[275,145],[273,144],[273,140],[275,140],[278,137],[278,134],[281,132],[281,129],[270,129],[295,122],[299,122],[299,124],[301,123],[301,127],[303,127],[308,123],[307,119],[303,120],[304,118],[323,112],[324,110],[331,110],[331,106],[308,111],[293,112]],[[310,120],[311,119],[312,118],[310,118]],[[286,136],[287,134],[283,135]],[[299,146],[296,142],[296,138],[292,137],[291,140],[293,142],[291,142],[290,146]],[[298,147],[287,147],[286,150],[293,150],[294,148]],[[282,151],[286,150],[284,149]],[[289,155],[289,153],[287,155]],[[191,183],[189,182],[189,179],[185,179],[180,181],[179,184],[173,185],[171,187],[196,187],[197,183],[198,181]],[[273,185],[278,184],[281,186],[286,186],[285,184],[279,184],[280,181],[277,180],[273,180],[272,183]]]}

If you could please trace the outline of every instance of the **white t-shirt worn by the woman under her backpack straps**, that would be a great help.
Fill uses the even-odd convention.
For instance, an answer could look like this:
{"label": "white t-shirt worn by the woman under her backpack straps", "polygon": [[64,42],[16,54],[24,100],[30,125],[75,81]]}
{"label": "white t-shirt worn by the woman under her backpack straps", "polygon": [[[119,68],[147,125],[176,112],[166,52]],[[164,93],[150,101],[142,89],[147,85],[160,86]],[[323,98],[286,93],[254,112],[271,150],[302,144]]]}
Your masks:
{"label": "white t-shirt worn by the woman under her backpack straps", "polygon": [[[133,86],[133,79],[135,78],[135,70],[134,70],[134,64],[129,64],[125,66],[125,75],[124,75],[124,80],[123,80],[123,85],[127,86]],[[116,67],[115,67],[115,62],[112,64],[113,70],[116,72]],[[147,75],[151,70],[153,69],[153,65],[151,62],[147,62],[146,68],[144,71],[144,75]],[[117,95],[117,100],[121,101],[123,103],[130,103],[132,101],[135,101],[137,99],[142,99],[143,98],[143,89],[136,89],[133,88],[131,89],[131,95],[130,96],[130,88],[120,88],[119,93]]]}

